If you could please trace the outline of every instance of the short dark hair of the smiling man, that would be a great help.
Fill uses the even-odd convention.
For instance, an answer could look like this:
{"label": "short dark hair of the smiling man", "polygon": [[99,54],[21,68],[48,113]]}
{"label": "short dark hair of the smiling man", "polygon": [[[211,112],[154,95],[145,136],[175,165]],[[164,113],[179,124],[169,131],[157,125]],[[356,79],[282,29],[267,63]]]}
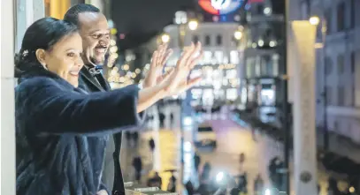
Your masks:
{"label": "short dark hair of the smiling man", "polygon": [[68,11],[66,11],[64,20],[79,26],[79,14],[83,12],[96,12],[100,10],[92,4],[75,4]]}

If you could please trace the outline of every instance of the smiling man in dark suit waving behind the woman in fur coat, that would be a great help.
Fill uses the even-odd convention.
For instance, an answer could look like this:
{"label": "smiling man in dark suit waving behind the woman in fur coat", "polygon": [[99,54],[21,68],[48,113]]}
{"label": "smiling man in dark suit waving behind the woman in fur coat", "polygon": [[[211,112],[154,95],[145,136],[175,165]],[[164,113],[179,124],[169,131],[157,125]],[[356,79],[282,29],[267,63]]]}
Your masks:
{"label": "smiling man in dark suit waving behind the woman in fur coat", "polygon": [[[76,4],[65,13],[64,20],[79,26],[82,38],[82,60],[85,65],[80,71],[79,86],[88,93],[111,90],[101,73],[101,65],[110,46],[110,30],[103,13],[91,4]],[[163,64],[171,53],[166,46],[160,46],[154,52],[149,73],[142,84],[144,88],[156,85],[157,75],[161,75]],[[103,183],[107,188],[113,186],[112,194],[125,194],[119,162],[122,133],[111,137],[113,141],[110,138],[105,154]],[[99,191],[98,194],[106,195],[107,191]]]}

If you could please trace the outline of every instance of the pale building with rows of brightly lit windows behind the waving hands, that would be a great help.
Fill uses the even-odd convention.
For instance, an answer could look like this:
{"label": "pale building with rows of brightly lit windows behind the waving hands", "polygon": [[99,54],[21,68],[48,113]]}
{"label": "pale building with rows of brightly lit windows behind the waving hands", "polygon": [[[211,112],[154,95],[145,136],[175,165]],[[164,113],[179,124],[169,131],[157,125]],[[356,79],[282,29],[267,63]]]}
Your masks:
{"label": "pale building with rows of brightly lit windows behind the waving hands", "polygon": [[[238,28],[237,23],[203,22],[195,30],[185,29],[185,45],[191,41],[203,44],[203,60],[190,75],[190,78],[203,77],[190,91],[193,105],[212,106],[216,101],[235,101],[238,98],[242,61],[239,42],[234,39]],[[169,47],[174,49],[167,64],[171,67],[180,56],[179,26],[166,26],[165,33],[170,35]]]}

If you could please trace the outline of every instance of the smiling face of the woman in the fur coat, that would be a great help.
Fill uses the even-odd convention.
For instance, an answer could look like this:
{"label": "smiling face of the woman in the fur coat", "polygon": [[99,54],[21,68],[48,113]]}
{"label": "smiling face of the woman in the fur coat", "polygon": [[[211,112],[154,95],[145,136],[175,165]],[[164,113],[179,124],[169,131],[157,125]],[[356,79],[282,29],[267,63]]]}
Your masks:
{"label": "smiling face of the woman in the fur coat", "polygon": [[67,35],[58,41],[52,49],[45,52],[46,68],[77,87],[79,85],[79,72],[84,65],[81,60],[81,53],[80,34]]}

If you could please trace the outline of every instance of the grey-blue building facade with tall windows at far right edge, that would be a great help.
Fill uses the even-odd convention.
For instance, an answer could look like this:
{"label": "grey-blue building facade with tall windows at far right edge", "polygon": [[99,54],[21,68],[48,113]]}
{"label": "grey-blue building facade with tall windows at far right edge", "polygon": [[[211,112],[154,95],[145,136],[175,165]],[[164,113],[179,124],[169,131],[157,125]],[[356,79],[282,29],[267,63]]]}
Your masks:
{"label": "grey-blue building facade with tall windows at far right edge", "polygon": [[360,144],[360,1],[311,0],[301,7],[303,19],[319,16],[324,43],[317,51],[317,125]]}

